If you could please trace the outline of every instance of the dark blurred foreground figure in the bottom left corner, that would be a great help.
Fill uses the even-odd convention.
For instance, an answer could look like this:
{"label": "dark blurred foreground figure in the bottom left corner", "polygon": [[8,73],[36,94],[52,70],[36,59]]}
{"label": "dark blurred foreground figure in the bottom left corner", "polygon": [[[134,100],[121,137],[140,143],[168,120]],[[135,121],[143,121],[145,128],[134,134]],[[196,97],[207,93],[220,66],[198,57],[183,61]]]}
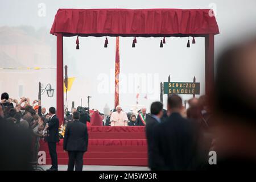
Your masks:
{"label": "dark blurred foreground figure in the bottom left corner", "polygon": [[30,130],[0,117],[0,171],[32,170]]}

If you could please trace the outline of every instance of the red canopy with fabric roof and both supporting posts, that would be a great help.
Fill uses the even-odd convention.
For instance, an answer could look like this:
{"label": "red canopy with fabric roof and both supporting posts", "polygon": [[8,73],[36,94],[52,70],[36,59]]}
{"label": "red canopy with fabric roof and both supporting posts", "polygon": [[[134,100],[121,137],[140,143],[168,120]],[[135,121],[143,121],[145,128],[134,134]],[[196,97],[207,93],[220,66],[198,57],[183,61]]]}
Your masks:
{"label": "red canopy with fabric roof and both supporting posts", "polygon": [[[205,38],[205,93],[214,78],[214,35],[218,25],[211,10],[59,9],[51,34],[57,35],[57,115],[64,121],[63,36],[201,36]],[[210,12],[212,14],[212,12]]]}

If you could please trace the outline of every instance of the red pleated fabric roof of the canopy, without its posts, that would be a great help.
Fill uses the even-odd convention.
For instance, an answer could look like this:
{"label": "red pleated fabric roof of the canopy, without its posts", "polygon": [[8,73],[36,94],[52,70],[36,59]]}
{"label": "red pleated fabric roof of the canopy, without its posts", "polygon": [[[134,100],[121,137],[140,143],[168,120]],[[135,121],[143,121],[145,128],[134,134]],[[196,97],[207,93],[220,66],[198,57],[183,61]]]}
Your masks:
{"label": "red pleated fabric roof of the canopy, without its posts", "polygon": [[[219,34],[207,9],[59,9],[51,34],[63,36],[201,36]],[[184,35],[185,34],[185,35]]]}

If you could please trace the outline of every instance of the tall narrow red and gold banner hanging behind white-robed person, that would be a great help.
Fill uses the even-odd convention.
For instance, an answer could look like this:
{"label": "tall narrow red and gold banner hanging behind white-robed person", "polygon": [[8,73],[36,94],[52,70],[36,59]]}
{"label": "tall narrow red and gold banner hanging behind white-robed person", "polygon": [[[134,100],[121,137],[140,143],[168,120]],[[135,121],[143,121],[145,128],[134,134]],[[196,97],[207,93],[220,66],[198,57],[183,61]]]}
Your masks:
{"label": "tall narrow red and gold banner hanging behind white-robed person", "polygon": [[119,105],[119,73],[120,73],[119,36],[117,36],[115,41],[115,107]]}

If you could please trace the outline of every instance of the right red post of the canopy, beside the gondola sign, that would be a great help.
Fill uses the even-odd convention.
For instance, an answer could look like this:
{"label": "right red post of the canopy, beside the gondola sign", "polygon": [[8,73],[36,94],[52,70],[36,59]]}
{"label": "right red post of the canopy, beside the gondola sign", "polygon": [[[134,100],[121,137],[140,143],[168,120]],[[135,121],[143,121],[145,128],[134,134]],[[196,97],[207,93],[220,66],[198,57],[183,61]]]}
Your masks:
{"label": "right red post of the canopy, beside the gondola sign", "polygon": [[214,84],[214,35],[205,36],[205,94],[212,92]]}

